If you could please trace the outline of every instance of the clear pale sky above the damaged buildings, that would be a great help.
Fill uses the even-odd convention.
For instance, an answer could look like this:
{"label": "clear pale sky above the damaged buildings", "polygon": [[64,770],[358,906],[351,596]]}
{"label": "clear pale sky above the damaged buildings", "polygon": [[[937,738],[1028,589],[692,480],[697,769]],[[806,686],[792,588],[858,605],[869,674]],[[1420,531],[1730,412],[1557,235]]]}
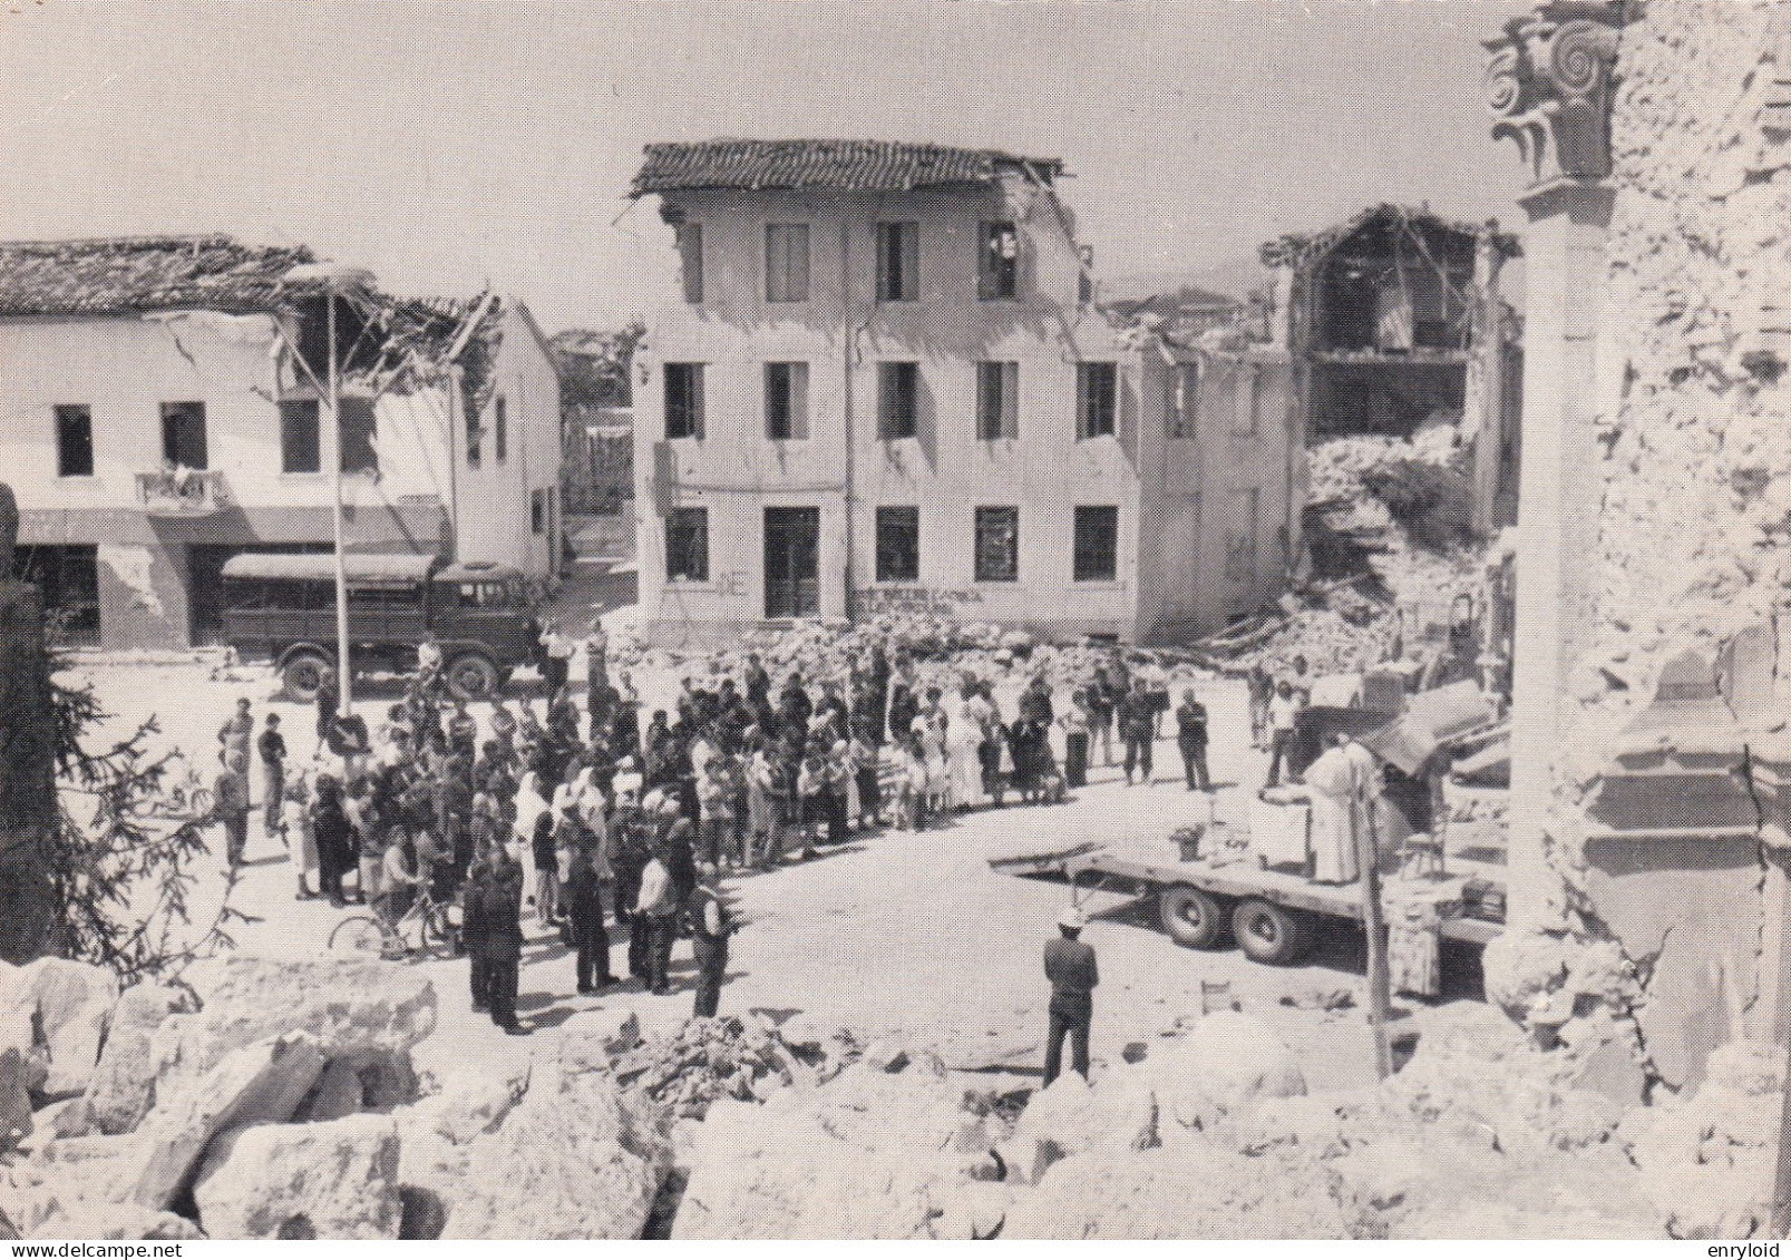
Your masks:
{"label": "clear pale sky above the damaged buildings", "polygon": [[915,140],[1062,158],[1107,277],[1255,279],[1381,202],[1522,224],[1479,41],[1522,0],[613,0],[0,7],[0,238],[308,243],[548,331],[670,299],[641,147]]}

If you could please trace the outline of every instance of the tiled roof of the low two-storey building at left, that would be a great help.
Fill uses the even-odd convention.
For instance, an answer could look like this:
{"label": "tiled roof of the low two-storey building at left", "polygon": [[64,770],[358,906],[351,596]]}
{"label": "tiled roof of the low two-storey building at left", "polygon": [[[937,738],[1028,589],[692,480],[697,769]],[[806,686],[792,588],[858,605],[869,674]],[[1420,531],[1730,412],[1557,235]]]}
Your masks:
{"label": "tiled roof of the low two-storey building at left", "polygon": [[269,310],[279,279],[308,261],[304,245],[231,236],[0,242],[0,315]]}

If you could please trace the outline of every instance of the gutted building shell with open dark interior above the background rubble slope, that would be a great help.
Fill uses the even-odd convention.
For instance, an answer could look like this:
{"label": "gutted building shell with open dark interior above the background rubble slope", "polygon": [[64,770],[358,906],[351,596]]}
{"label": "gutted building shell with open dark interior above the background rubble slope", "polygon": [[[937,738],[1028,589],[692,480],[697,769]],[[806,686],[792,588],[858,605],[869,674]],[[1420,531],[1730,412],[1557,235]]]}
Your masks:
{"label": "gutted building shell with open dark interior above the background rubble slope", "polygon": [[1472,442],[1476,532],[1515,523],[1522,351],[1499,274],[1519,240],[1381,204],[1259,254],[1304,440],[1458,426]]}

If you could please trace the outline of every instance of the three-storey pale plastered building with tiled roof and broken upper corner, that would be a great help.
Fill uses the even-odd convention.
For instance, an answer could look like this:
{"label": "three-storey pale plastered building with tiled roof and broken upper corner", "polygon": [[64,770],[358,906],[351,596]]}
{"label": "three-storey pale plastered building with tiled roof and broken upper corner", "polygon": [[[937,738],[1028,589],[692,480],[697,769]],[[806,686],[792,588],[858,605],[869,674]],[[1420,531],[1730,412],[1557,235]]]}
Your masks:
{"label": "three-storey pale plastered building with tiled roof and broken upper corner", "polygon": [[1055,159],[648,145],[681,301],[634,358],[643,632],[926,610],[1152,639],[1298,548],[1284,349],[1096,301]]}

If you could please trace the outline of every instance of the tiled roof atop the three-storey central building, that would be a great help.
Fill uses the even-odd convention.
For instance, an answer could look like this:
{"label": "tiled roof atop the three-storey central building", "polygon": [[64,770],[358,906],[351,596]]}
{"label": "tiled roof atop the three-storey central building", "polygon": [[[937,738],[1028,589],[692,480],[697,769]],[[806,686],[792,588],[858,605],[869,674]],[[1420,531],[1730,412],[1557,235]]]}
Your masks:
{"label": "tiled roof atop the three-storey central building", "polygon": [[947,149],[890,140],[704,140],[647,145],[630,197],[679,188],[906,192],[937,184],[987,184],[1003,168],[1030,166],[1046,183],[1057,158],[996,149]]}

